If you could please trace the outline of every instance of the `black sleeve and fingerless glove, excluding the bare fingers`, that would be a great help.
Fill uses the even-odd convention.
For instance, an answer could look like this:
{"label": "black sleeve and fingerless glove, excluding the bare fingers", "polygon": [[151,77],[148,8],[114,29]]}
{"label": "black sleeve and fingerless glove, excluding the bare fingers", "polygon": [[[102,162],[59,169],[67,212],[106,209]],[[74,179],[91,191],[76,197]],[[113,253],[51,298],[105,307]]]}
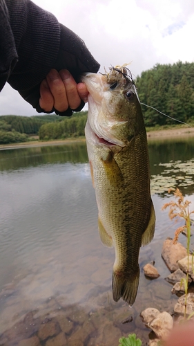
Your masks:
{"label": "black sleeve and fingerless glove, excluding the bare fingers", "polygon": [[68,69],[77,82],[99,69],[84,42],[30,0],[0,0],[0,51],[0,91],[7,81],[37,111],[50,69]]}

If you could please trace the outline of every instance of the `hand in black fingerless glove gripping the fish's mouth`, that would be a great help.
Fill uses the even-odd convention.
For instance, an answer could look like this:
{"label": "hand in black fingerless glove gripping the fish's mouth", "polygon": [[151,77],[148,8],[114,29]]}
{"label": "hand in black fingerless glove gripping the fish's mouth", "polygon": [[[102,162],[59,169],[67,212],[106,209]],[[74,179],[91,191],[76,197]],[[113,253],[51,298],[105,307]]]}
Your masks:
{"label": "hand in black fingerless glove gripping the fish's mouth", "polygon": [[[27,65],[28,69],[23,71],[23,64],[18,63],[8,82],[19,91],[24,100],[32,104],[38,113],[55,111],[59,116],[71,116],[72,109],[73,111],[81,111],[88,95],[86,86],[79,83],[81,75],[87,72],[97,73],[99,64],[75,33],[62,24],[59,24],[59,28],[60,37],[59,35],[57,37],[59,41],[56,41],[56,45],[55,42],[52,42],[52,46],[54,45],[52,53],[50,53],[51,42],[49,39],[52,35],[52,28],[50,28],[50,35],[48,36],[48,29],[43,27],[40,37],[46,33],[46,42],[39,50],[37,50],[37,46],[40,37],[39,35],[33,37],[30,44],[34,47],[33,43],[35,42],[35,48],[31,49],[31,51],[35,50],[35,54],[32,55],[32,59],[31,56],[28,57],[27,62],[23,52],[25,52],[24,43],[29,44],[29,42],[27,40],[23,42],[23,46],[20,45],[21,51],[18,52],[18,55],[21,57],[21,62],[26,62],[24,66]],[[54,27],[53,35],[56,34],[55,31],[56,28]],[[54,54],[55,51],[57,56]],[[48,59],[44,64],[45,55]],[[64,71],[64,69],[70,73],[70,78],[64,78],[60,75],[60,71]],[[59,71],[57,78],[56,75],[51,76],[53,70]],[[67,104],[70,107],[67,108]],[[74,108],[77,104],[79,107]],[[50,110],[48,111],[48,109]],[[66,111],[61,111],[61,109],[66,109]]]}

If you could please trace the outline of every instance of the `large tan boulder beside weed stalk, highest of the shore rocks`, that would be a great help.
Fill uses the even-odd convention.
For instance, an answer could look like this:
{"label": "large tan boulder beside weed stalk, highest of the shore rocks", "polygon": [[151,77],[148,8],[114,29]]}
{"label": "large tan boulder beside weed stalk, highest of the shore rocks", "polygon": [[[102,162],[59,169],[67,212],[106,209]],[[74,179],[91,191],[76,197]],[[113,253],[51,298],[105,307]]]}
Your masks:
{"label": "large tan boulder beside weed stalk, highest of the shore rocks", "polygon": [[171,272],[176,271],[179,268],[177,262],[182,260],[186,254],[186,248],[184,248],[184,246],[179,242],[173,244],[173,239],[171,238],[167,238],[164,241],[162,247],[162,258]]}

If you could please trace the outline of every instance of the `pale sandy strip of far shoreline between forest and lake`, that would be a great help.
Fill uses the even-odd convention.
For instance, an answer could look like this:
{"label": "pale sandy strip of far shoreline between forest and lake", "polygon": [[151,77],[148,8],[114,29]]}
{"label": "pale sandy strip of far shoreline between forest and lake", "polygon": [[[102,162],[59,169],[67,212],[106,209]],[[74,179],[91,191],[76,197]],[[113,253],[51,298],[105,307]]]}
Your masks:
{"label": "pale sandy strip of far shoreline between forest and lake", "polygon": [[[162,129],[162,130],[153,130],[147,132],[147,138],[149,140],[162,140],[162,139],[171,139],[171,138],[185,138],[185,137],[194,137],[194,127],[180,127],[177,129]],[[86,142],[85,138],[72,138],[72,139],[59,139],[59,140],[46,140],[39,141],[35,140],[32,142],[24,142],[24,143],[10,143],[10,144],[1,144],[0,150],[6,149],[18,149],[24,147],[43,147],[49,145],[63,145],[68,143],[79,143]]]}

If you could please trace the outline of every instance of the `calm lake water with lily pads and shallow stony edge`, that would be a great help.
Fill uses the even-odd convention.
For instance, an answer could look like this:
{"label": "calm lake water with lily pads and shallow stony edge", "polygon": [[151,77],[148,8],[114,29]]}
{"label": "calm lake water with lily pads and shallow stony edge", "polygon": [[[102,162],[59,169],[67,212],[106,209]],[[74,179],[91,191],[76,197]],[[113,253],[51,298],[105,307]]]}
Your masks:
{"label": "calm lake water with lily pads and shallow stony edge", "polygon": [[[0,150],[0,345],[117,346],[132,332],[146,345],[139,313],[173,312],[161,251],[177,225],[161,208],[172,185],[194,205],[194,139],[150,140],[149,152],[157,223],[130,309],[112,298],[115,254],[99,240],[85,143]],[[147,280],[142,268],[153,260],[160,277]]]}

